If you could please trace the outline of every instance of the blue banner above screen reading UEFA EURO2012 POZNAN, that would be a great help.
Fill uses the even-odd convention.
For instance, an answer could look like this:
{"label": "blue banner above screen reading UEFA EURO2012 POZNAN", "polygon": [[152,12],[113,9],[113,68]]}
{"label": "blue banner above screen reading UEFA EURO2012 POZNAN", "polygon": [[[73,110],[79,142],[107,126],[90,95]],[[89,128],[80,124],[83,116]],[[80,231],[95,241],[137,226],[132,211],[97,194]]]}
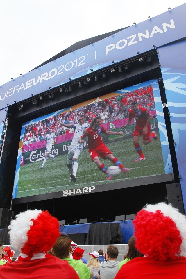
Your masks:
{"label": "blue banner above screen reading UEFA EURO2012 POZNAN", "polygon": [[185,4],[130,26],[0,86],[0,108],[185,37]]}

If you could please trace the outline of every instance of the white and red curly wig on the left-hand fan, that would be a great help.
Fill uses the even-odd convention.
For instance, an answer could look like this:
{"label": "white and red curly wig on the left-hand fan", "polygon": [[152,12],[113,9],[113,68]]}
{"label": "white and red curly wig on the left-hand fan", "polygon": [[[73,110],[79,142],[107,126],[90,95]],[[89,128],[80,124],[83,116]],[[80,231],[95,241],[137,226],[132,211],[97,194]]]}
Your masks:
{"label": "white and red curly wig on the left-hand fan", "polygon": [[60,235],[58,220],[37,209],[17,215],[8,229],[12,247],[26,255],[47,253]]}

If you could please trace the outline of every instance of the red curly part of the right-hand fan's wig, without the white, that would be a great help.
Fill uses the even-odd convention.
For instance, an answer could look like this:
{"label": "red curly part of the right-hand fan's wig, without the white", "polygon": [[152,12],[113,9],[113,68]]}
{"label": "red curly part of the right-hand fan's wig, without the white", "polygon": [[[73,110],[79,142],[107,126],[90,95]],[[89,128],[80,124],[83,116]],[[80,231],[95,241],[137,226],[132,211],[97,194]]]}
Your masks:
{"label": "red curly part of the right-hand fan's wig, without the white", "polygon": [[174,260],[180,253],[182,238],[175,222],[160,210],[140,210],[133,221],[135,247],[158,261]]}

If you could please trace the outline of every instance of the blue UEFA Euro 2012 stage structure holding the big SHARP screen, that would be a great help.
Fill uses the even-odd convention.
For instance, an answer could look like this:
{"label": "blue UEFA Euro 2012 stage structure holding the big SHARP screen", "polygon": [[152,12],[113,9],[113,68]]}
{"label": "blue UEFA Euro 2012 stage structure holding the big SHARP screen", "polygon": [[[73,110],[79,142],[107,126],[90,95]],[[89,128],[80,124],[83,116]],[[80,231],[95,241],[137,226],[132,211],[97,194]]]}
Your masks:
{"label": "blue UEFA Euro 2012 stage structure holding the big SHARP screen", "polygon": [[[159,201],[174,203],[184,213],[185,6],[76,43],[0,86],[1,208],[16,214],[47,209],[67,223],[113,221]],[[137,118],[123,127],[133,101],[148,111],[150,133],[156,134],[147,145],[140,138],[141,161],[133,144]],[[85,138],[77,177],[69,180],[67,156],[82,114],[87,127],[101,116],[104,129],[116,132],[101,133],[102,141],[130,171],[106,180]],[[101,212],[98,206],[92,213],[95,201]],[[111,211],[108,204],[116,206]]]}

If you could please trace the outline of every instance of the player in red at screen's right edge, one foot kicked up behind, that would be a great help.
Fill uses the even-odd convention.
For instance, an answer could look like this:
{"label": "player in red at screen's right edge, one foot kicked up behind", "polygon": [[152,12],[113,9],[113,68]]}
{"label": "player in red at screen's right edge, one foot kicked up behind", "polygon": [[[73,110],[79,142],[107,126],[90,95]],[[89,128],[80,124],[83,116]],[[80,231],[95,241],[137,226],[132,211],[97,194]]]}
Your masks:
{"label": "player in red at screen's right edge, one foot kicked up behind", "polygon": [[134,101],[132,103],[132,109],[128,111],[128,122],[122,128],[124,129],[125,127],[127,127],[132,121],[132,118],[135,118],[136,126],[133,132],[133,144],[137,153],[139,154],[139,157],[137,158],[137,160],[135,160],[135,162],[138,162],[141,160],[145,160],[145,156],[139,144],[140,137],[143,136],[143,144],[145,145],[149,144],[152,139],[157,140],[158,137],[155,132],[150,133],[151,115],[148,109],[143,108],[141,105],[138,105],[137,101]]}

